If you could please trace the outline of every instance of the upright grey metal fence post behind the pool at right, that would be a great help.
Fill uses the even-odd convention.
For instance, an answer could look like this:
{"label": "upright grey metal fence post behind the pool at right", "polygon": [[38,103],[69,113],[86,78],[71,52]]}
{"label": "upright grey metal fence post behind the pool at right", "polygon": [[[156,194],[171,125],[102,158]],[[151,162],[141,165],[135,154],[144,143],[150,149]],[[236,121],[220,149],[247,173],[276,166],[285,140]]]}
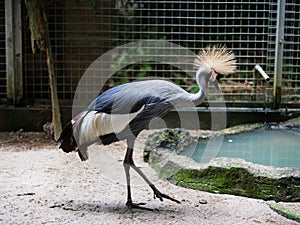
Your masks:
{"label": "upright grey metal fence post behind the pool at right", "polygon": [[282,61],[284,44],[285,0],[277,3],[277,25],[275,45],[275,71],[273,86],[273,108],[278,109],[281,103]]}

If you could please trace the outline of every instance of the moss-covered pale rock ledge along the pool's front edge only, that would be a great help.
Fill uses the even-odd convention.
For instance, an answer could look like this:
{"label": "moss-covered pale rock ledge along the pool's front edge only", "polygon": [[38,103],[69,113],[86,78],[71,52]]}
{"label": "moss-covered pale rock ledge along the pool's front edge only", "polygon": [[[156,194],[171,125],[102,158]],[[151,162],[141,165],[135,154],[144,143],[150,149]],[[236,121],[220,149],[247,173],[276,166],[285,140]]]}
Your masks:
{"label": "moss-covered pale rock ledge along the pool's front edge only", "polygon": [[174,153],[150,154],[159,176],[196,190],[264,200],[300,201],[300,168],[268,167],[242,159],[215,158],[198,164]]}

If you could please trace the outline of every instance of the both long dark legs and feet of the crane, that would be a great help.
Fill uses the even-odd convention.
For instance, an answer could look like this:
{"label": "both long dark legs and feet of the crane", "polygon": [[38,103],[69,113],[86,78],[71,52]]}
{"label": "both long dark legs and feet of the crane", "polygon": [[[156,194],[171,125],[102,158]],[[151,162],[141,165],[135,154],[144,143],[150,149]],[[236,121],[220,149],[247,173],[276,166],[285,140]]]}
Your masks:
{"label": "both long dark legs and feet of the crane", "polygon": [[137,166],[135,166],[134,162],[133,162],[133,158],[132,158],[132,154],[133,154],[133,143],[134,143],[134,140],[130,141],[130,140],[127,140],[127,151],[126,151],[126,155],[125,155],[125,159],[124,159],[124,169],[125,169],[125,174],[126,174],[126,181],[127,181],[127,203],[126,205],[129,207],[129,208],[140,208],[140,209],[147,209],[147,210],[150,210],[148,208],[144,208],[144,207],[141,207],[140,205],[143,205],[144,203],[141,203],[141,204],[134,204],[132,203],[132,198],[131,198],[131,189],[130,189],[130,167],[133,168],[143,179],[144,181],[151,187],[151,189],[153,190],[154,192],[154,198],[158,198],[159,200],[163,201],[163,199],[169,199],[171,201],[174,201],[178,204],[180,204],[181,202],[166,195],[166,194],[163,194],[161,193],[155,186],[154,184],[151,183],[151,181],[145,176],[145,174],[141,171],[140,168],[138,168]]}

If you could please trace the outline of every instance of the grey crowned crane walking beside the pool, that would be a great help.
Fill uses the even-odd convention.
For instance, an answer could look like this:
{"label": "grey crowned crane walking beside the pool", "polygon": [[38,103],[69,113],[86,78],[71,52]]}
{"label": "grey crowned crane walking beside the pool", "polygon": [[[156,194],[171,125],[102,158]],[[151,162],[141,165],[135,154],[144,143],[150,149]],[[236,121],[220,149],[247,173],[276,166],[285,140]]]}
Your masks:
{"label": "grey crowned crane walking beside the pool", "polygon": [[190,94],[165,80],[145,80],[122,84],[100,94],[83,112],[64,128],[58,141],[64,152],[77,151],[82,161],[88,159],[87,147],[95,142],[109,145],[127,140],[123,166],[127,181],[126,205],[142,208],[133,203],[130,188],[130,168],[134,169],[154,191],[154,198],[180,201],[161,193],[134,164],[132,154],[138,134],[156,117],[163,117],[171,109],[196,106],[207,95],[208,82],[217,89],[218,74],[232,74],[236,70],[234,54],[225,47],[207,47],[195,59],[196,82],[199,92]]}

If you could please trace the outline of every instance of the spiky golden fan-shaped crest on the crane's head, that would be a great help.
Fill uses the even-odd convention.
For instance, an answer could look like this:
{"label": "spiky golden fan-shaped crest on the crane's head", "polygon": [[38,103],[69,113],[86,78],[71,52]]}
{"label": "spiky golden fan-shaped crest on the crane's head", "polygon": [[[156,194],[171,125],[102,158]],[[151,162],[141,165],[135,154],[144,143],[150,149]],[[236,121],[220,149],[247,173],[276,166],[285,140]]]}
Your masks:
{"label": "spiky golden fan-shaped crest on the crane's head", "polygon": [[236,72],[236,59],[233,52],[225,46],[208,46],[198,53],[194,66],[197,69],[206,67],[218,74],[228,75]]}

